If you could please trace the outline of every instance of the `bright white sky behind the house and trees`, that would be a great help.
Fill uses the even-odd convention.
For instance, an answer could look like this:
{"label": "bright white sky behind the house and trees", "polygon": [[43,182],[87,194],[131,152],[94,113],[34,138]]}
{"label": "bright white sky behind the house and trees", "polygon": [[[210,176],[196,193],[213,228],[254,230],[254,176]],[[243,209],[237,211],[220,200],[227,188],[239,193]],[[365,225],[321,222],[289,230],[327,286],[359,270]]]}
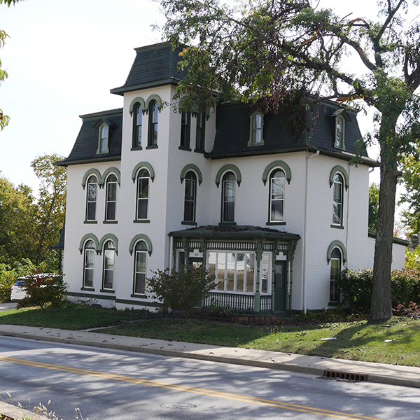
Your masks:
{"label": "bright white sky behind the house and trees", "polygon": [[[337,14],[376,15],[375,0],[321,0]],[[159,3],[151,0],[25,0],[0,5],[0,49],[8,78],[0,85],[0,109],[10,123],[0,132],[0,171],[15,186],[36,192],[31,161],[45,153],[69,155],[80,115],[123,106],[109,92],[125,83],[134,48],[162,41],[151,25],[162,25]],[[360,118],[365,134],[369,118]],[[377,151],[370,151],[377,158]],[[379,171],[372,181],[379,182]]]}

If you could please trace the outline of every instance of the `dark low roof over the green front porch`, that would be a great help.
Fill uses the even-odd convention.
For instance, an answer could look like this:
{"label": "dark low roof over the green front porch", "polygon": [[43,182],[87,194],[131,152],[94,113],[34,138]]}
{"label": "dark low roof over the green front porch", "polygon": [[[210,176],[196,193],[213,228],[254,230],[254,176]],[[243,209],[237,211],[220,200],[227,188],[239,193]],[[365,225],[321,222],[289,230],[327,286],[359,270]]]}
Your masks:
{"label": "dark low roof over the green front porch", "polygon": [[174,230],[169,236],[178,238],[242,239],[264,238],[272,240],[297,241],[300,235],[272,228],[251,225],[207,225],[198,228]]}

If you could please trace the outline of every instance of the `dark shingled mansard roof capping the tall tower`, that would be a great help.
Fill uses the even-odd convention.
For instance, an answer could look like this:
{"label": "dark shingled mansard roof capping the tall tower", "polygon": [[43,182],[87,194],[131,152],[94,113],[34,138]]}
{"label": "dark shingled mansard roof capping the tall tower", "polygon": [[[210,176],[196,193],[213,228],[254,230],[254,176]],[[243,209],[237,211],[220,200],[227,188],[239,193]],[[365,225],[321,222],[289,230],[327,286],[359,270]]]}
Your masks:
{"label": "dark shingled mansard roof capping the tall tower", "polygon": [[172,50],[172,43],[158,43],[146,47],[135,48],[137,55],[127,77],[121,87],[111,89],[111,93],[124,94],[131,90],[145,87],[178,83],[187,75],[188,70],[179,71],[177,66],[181,61],[179,53],[183,47]]}

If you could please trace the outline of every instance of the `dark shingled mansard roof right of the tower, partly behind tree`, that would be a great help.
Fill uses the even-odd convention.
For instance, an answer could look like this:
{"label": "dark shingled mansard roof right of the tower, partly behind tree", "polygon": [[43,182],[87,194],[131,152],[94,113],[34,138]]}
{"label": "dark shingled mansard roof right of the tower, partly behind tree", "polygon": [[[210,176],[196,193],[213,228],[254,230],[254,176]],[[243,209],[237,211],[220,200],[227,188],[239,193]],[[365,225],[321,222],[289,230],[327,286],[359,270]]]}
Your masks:
{"label": "dark shingled mansard roof right of the tower, partly behind tree", "polygon": [[[344,111],[346,123],[344,128],[345,151],[334,148],[335,118],[333,114],[342,110],[337,104],[327,102],[311,106],[307,128],[297,135],[285,130],[281,113],[267,113],[264,117],[262,146],[248,146],[249,114],[258,109],[250,104],[220,104],[216,110],[216,139],[211,153],[206,158],[221,159],[244,155],[265,155],[293,151],[321,151],[337,158],[350,160],[358,153],[358,142],[362,134],[358,127],[356,113]],[[366,151],[361,153],[363,162],[375,166],[377,163],[367,157]]]}

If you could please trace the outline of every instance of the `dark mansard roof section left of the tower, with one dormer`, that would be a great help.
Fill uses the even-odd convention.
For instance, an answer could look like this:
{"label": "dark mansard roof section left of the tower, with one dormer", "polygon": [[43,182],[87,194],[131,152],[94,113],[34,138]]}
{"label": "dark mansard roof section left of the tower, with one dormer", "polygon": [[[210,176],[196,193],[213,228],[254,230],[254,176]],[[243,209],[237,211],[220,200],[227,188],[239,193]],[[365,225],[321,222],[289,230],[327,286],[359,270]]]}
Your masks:
{"label": "dark mansard roof section left of the tower, with one dormer", "polygon": [[[86,114],[80,116],[80,118],[83,119],[83,124],[69,157],[56,162],[56,165],[67,166],[84,163],[81,161],[120,160],[123,109],[111,109],[111,111]],[[98,123],[102,121],[109,125],[109,153],[97,154],[99,141],[99,130],[97,127]]]}

